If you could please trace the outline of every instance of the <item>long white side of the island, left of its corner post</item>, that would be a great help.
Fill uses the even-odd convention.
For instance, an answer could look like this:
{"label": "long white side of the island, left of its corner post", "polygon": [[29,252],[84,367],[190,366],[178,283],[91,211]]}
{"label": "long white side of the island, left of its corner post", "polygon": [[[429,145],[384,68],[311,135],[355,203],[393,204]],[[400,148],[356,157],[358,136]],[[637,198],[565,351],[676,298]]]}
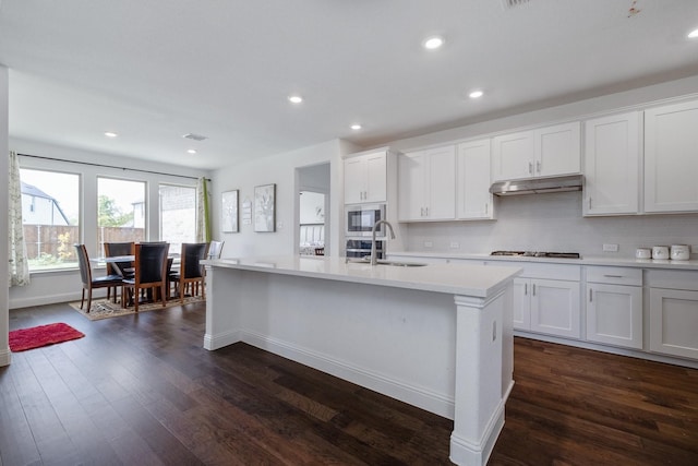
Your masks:
{"label": "long white side of the island, left of its corner post", "polygon": [[221,289],[225,296],[210,306],[216,342],[232,332],[258,348],[453,419],[453,295],[214,268],[207,296]]}

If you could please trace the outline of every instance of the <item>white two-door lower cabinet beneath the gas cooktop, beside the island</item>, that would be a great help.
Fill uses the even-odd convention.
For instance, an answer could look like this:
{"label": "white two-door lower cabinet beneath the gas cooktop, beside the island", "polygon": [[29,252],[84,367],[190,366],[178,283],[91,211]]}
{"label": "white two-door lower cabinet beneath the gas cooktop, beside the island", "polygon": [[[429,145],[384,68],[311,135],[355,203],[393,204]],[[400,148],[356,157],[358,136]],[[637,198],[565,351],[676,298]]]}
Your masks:
{"label": "white two-door lower cabinet beneath the gas cooktop, beside the island", "polygon": [[579,266],[527,264],[522,275],[514,280],[514,328],[580,338]]}

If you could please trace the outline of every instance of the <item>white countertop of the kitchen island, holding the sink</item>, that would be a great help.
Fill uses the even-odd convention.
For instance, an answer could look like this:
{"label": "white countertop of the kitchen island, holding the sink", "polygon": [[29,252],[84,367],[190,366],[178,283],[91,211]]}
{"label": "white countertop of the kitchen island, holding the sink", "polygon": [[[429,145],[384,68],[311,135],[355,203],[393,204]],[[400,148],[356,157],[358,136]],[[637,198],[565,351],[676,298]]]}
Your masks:
{"label": "white countertop of the kitchen island, holding the sink", "polygon": [[327,256],[218,259],[201,263],[214,267],[420,289],[479,298],[490,296],[504,282],[521,271],[517,267],[486,267],[470,264],[429,264],[417,267],[372,266],[361,262],[347,263],[344,258]]}

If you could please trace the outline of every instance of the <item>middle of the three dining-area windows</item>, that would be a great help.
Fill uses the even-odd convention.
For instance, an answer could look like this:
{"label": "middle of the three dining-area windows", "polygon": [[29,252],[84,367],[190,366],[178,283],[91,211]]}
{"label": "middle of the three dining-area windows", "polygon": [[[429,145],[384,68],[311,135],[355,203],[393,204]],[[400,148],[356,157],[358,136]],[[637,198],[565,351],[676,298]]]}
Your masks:
{"label": "middle of the three dining-area windows", "polygon": [[97,240],[145,241],[145,182],[97,178]]}

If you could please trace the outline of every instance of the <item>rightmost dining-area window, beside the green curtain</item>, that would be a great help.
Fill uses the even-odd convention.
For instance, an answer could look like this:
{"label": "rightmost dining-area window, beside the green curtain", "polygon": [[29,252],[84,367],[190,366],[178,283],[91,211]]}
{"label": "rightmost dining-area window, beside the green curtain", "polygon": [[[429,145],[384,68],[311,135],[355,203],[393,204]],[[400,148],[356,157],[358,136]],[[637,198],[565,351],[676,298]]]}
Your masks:
{"label": "rightmost dining-area window, beside the green curtain", "polygon": [[196,188],[160,184],[160,240],[170,252],[196,241]]}

